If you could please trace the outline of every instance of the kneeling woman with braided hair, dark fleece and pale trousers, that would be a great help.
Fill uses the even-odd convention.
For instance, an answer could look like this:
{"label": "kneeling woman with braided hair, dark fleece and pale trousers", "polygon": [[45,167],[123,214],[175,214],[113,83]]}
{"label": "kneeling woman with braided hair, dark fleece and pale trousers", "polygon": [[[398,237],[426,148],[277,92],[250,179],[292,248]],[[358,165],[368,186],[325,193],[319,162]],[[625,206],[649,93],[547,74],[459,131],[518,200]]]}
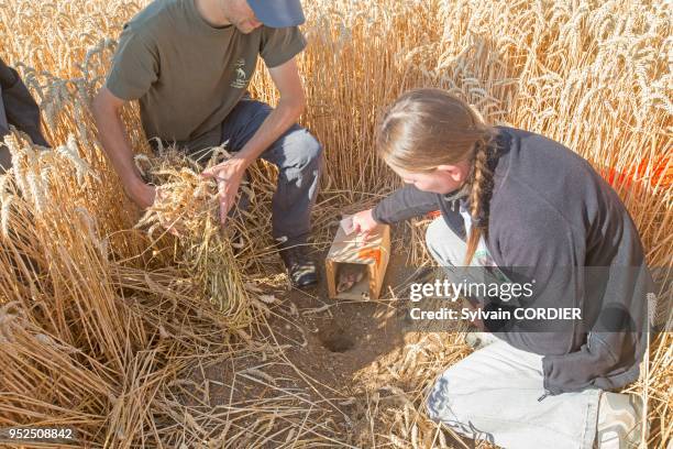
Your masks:
{"label": "kneeling woman with braided hair, dark fleece and pale trousers", "polygon": [[532,296],[477,298],[476,307],[582,314],[570,324],[485,320],[497,338],[439,376],[429,416],[508,448],[639,441],[639,398],[608,391],[639,376],[651,278],[617,194],[560,143],[492,127],[439,89],[402,95],[376,146],[407,186],[356,213],[360,232],[439,209],[426,237],[439,264],[536,285]]}

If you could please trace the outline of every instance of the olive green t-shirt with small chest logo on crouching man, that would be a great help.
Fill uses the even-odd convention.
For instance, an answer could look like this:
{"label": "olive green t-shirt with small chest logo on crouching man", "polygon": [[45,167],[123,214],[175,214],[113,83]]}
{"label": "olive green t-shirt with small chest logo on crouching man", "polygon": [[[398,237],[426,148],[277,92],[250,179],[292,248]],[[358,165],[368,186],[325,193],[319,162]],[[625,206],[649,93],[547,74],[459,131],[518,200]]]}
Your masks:
{"label": "olive green t-shirt with small chest logo on crouching man", "polygon": [[194,0],[155,0],[124,24],[106,86],[139,99],[148,139],[198,150],[221,143],[221,123],[245,94],[257,55],[275,67],[305,46],[297,26],[243,34],[210,25]]}

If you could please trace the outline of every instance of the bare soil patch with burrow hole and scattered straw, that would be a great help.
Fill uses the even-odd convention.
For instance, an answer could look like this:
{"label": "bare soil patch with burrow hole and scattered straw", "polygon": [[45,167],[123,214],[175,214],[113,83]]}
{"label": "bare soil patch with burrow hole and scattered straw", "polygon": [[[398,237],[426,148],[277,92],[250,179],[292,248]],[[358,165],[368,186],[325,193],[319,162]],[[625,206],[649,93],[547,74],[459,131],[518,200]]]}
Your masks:
{"label": "bare soil patch with burrow hole and scattered straw", "polygon": [[[315,256],[324,261],[324,255]],[[240,357],[225,354],[214,363],[195,366],[188,379],[201,392],[183,401],[222,407],[228,419],[236,417],[234,427],[253,434],[263,427],[257,423],[263,410],[311,410],[304,412],[304,417],[290,413],[287,419],[273,423],[265,435],[277,432],[279,439],[271,439],[265,447],[284,441],[283,426],[296,425],[297,419],[313,423],[316,441],[328,447],[369,446],[363,435],[371,430],[372,395],[378,401],[390,385],[419,391],[420,385],[410,384],[389,366],[400,363],[408,354],[405,349],[423,335],[405,329],[406,302],[390,295],[382,294],[384,299],[375,302],[330,299],[322,265],[319,284],[307,291],[263,286],[277,300],[269,305],[268,326],[260,326],[253,336],[256,343],[240,351]],[[408,272],[401,256],[393,258],[384,292],[408,283]],[[246,408],[247,416],[239,413]],[[230,438],[234,434],[228,429]],[[258,440],[253,446],[257,445]]]}

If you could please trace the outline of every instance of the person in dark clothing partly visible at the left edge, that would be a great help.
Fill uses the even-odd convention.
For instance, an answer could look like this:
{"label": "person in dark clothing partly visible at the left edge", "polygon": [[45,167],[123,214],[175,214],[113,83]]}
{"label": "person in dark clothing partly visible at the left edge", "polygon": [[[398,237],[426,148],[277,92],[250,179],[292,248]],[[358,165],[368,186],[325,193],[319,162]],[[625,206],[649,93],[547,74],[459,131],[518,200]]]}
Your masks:
{"label": "person in dark clothing partly visible at the left edge", "polygon": [[12,166],[9,149],[2,144],[10,124],[30,135],[33,143],[48,146],[42,135],[37,103],[16,70],[0,58],[0,175]]}

